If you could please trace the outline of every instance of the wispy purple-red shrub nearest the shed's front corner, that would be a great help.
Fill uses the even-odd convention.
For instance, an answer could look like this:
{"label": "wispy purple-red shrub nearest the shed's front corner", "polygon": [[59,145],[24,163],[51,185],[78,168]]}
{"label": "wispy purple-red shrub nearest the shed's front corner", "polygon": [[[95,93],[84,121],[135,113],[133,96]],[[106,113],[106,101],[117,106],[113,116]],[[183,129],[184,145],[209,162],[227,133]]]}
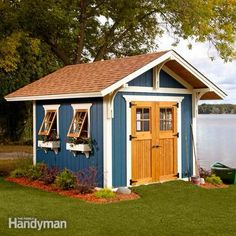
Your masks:
{"label": "wispy purple-red shrub nearest the shed's front corner", "polygon": [[77,173],[76,189],[79,193],[92,193],[96,187],[97,170],[94,167],[89,167],[87,170]]}

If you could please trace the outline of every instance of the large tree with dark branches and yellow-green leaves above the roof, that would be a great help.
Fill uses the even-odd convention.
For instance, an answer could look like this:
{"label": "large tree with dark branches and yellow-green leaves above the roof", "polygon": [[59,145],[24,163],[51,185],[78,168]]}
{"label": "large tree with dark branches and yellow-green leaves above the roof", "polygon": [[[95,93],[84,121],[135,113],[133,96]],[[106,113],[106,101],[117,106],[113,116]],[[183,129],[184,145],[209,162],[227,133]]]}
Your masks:
{"label": "large tree with dark branches and yellow-green leaves above the roof", "polygon": [[164,29],[176,43],[209,41],[223,59],[235,56],[236,0],[12,0],[0,12],[3,39],[25,32],[63,64],[152,51]]}

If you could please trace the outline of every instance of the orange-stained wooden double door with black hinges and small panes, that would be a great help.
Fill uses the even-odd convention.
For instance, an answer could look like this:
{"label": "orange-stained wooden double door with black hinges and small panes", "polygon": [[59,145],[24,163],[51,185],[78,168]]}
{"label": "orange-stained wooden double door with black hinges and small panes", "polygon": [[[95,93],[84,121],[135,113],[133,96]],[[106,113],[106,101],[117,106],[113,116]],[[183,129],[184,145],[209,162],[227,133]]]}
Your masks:
{"label": "orange-stained wooden double door with black hinges and small panes", "polygon": [[177,176],[177,103],[131,103],[131,184]]}

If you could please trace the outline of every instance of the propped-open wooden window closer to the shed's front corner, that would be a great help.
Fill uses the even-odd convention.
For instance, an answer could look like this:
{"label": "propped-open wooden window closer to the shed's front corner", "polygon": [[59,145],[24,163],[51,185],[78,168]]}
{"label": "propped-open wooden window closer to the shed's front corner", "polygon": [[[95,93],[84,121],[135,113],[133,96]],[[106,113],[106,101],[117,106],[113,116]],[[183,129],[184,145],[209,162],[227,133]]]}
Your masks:
{"label": "propped-open wooden window closer to the shed's front corner", "polygon": [[88,137],[88,110],[75,110],[75,115],[70,124],[68,137]]}

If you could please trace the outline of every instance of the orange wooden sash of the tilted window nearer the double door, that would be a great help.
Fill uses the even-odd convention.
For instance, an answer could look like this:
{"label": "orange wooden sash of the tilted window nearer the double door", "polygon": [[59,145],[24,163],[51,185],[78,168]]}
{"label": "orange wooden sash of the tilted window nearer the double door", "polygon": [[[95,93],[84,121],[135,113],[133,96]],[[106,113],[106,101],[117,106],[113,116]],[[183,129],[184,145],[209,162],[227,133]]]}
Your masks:
{"label": "orange wooden sash of the tilted window nearer the double door", "polygon": [[[78,119],[77,116],[79,116],[79,120],[77,120]],[[87,117],[88,117],[88,110],[86,110],[86,109],[75,110],[75,114],[74,114],[74,117],[71,121],[67,136],[72,137],[72,138],[79,138],[82,131],[83,131],[84,124],[85,124]],[[86,130],[86,131],[88,132],[88,130]]]}

